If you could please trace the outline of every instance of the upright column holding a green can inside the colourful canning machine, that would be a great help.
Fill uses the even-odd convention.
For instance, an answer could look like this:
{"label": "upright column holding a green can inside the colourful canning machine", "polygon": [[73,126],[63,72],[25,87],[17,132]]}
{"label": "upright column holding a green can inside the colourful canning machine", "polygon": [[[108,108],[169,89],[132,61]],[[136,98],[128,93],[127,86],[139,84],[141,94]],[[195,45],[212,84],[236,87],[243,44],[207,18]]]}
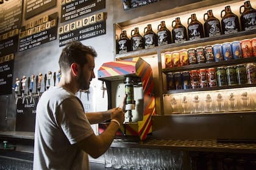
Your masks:
{"label": "upright column holding a green can inside the colourful canning machine", "polygon": [[125,90],[126,90],[126,110],[128,111],[129,122],[132,122],[132,110],[135,109],[135,100],[133,96],[133,80],[132,77],[126,77],[125,80]]}

